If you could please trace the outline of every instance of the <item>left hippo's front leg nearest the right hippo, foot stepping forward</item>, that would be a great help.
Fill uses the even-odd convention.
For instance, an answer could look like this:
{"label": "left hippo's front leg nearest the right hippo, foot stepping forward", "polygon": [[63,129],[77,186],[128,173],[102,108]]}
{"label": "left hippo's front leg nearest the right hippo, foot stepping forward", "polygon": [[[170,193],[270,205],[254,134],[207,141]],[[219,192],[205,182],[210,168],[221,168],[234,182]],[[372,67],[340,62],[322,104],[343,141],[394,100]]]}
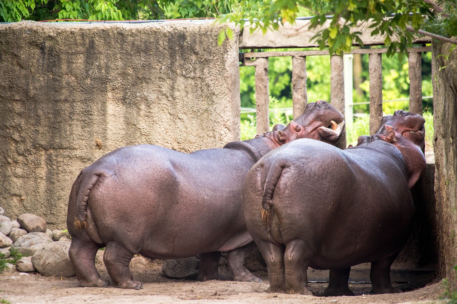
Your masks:
{"label": "left hippo's front leg nearest the right hippo, foot stepping forward", "polygon": [[254,242],[251,242],[248,245],[228,252],[228,270],[232,273],[235,281],[262,283],[260,278],[257,278],[244,266],[246,258],[253,246]]}

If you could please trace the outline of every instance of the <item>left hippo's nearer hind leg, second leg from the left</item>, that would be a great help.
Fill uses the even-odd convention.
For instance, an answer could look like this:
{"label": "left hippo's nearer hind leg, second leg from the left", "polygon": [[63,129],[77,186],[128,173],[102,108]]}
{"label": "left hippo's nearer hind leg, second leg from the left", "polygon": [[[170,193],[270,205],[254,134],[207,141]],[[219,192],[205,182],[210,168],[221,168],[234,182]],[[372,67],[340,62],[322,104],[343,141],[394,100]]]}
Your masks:
{"label": "left hippo's nearer hind leg, second leg from the left", "polygon": [[105,262],[106,270],[108,270],[110,278],[117,287],[143,289],[143,283],[133,280],[133,274],[128,267],[132,258],[133,253],[121,244],[114,241],[106,243],[103,262]]}

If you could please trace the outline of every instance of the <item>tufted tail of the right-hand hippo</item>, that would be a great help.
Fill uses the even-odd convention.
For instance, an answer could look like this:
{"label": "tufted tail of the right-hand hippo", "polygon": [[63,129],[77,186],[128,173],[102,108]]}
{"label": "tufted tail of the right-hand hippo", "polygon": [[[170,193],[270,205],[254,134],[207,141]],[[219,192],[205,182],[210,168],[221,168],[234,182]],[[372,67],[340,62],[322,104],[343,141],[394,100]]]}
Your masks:
{"label": "tufted tail of the right-hand hippo", "polygon": [[288,167],[287,161],[277,161],[271,163],[263,163],[263,168],[260,174],[260,185],[263,189],[262,209],[260,215],[266,227],[270,229],[271,212],[273,211],[273,192],[276,184],[282,174],[282,170]]}

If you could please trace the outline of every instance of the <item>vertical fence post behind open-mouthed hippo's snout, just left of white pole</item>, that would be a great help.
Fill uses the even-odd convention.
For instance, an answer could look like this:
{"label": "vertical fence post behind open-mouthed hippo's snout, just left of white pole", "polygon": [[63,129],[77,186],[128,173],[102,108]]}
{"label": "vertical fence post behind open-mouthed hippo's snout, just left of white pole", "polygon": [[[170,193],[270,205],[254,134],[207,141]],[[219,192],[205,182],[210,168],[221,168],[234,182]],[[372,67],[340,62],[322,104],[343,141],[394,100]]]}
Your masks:
{"label": "vertical fence post behind open-mouthed hippo's snout, just left of white pole", "polygon": [[[344,116],[344,63],[340,56],[330,57],[330,103],[337,108]],[[338,148],[346,148],[346,131],[343,131]]]}

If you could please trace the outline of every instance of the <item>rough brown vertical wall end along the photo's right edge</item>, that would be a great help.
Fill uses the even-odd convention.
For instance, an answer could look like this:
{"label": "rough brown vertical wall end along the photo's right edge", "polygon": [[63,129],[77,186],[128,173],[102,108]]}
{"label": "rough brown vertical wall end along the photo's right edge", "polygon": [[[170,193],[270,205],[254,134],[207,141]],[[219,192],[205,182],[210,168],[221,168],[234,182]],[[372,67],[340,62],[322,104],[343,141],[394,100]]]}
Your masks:
{"label": "rough brown vertical wall end along the photo's right edge", "polygon": [[449,52],[451,46],[433,43],[433,140],[440,274],[457,289],[457,50]]}

